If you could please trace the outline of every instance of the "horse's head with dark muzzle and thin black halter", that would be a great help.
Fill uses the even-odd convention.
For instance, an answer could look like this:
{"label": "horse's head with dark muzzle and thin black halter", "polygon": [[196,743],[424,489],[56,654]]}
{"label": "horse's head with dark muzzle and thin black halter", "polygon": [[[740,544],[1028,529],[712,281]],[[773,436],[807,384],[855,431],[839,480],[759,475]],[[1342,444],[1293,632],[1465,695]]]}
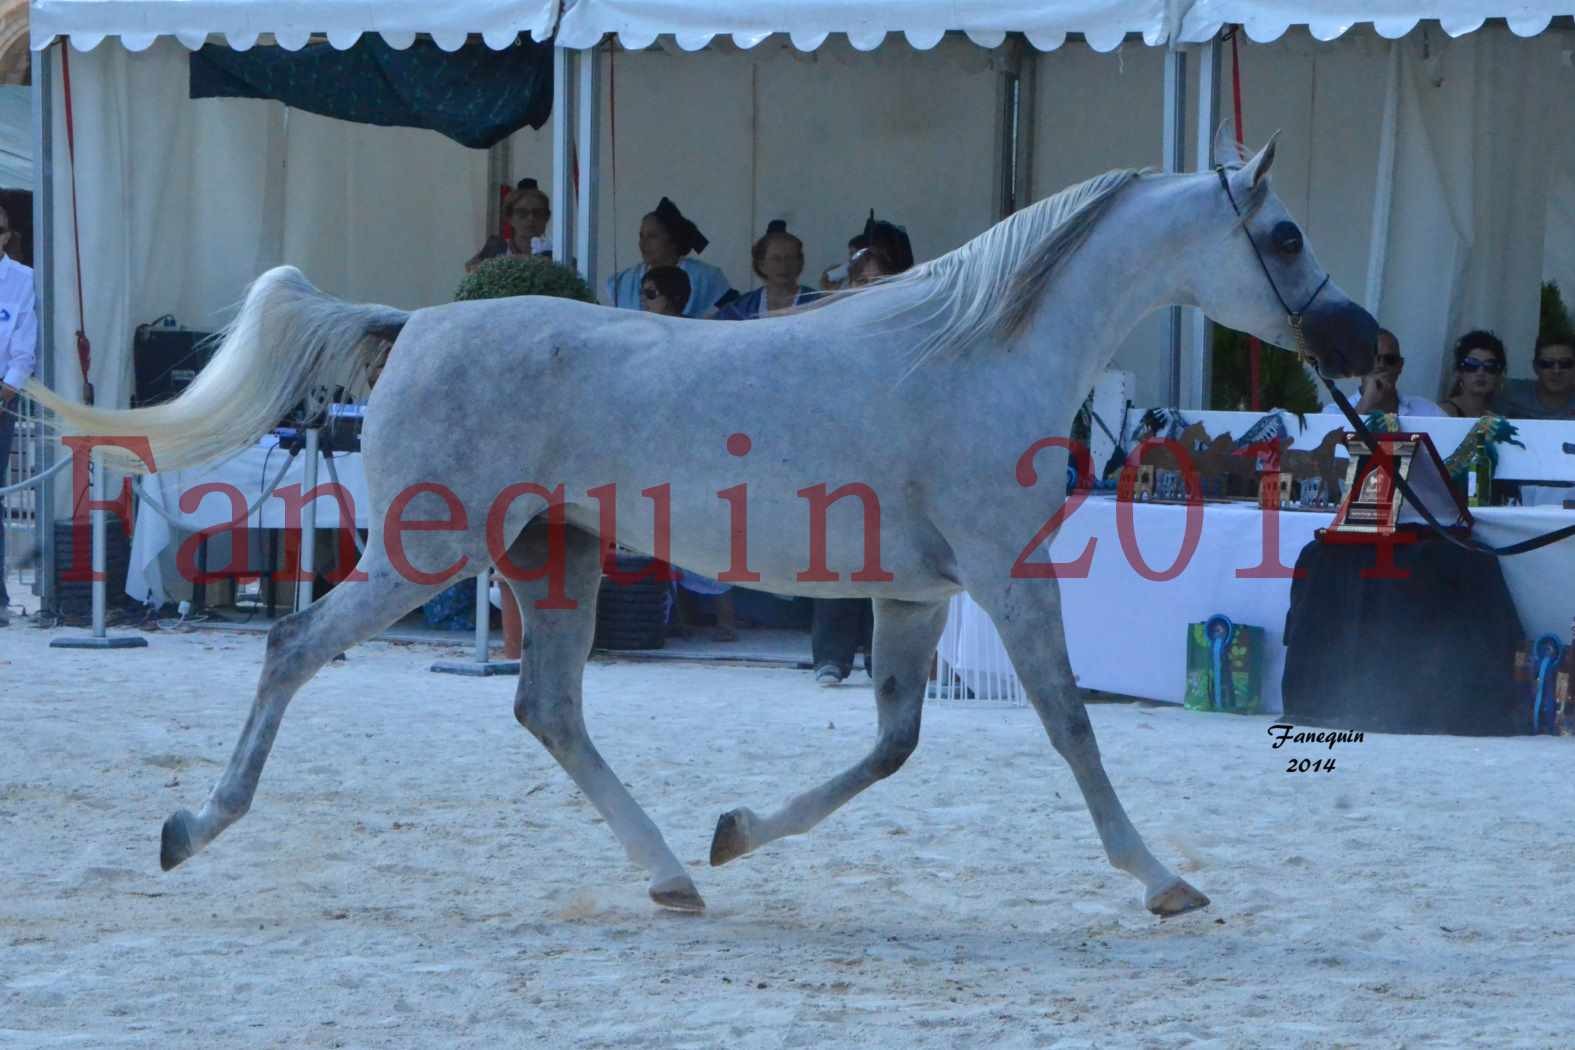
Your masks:
{"label": "horse's head with dark muzzle and thin black halter", "polygon": [[1206,205],[1219,217],[1192,268],[1197,305],[1219,324],[1266,343],[1304,349],[1323,375],[1367,375],[1378,323],[1318,264],[1312,246],[1269,187],[1271,140],[1238,168],[1208,176]]}

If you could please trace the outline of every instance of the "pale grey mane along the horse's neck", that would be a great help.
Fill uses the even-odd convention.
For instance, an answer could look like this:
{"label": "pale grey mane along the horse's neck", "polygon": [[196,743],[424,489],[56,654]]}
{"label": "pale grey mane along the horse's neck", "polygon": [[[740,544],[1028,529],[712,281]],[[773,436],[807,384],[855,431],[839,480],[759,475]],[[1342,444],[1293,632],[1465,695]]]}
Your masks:
{"label": "pale grey mane along the horse's neck", "polygon": [[898,313],[910,315],[914,323],[939,318],[940,324],[914,346],[912,368],[931,357],[961,357],[986,338],[1021,332],[1060,264],[1082,247],[1121,190],[1147,173],[1118,168],[1069,186],[940,258],[833,298],[923,285],[923,302],[895,307],[884,320]]}

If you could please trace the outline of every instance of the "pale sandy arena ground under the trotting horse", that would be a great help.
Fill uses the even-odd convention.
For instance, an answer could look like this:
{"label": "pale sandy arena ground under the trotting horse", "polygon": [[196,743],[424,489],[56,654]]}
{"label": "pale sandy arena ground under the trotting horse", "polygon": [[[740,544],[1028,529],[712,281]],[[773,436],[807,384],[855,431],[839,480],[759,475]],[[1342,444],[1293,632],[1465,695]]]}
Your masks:
{"label": "pale sandy arena ground under the trotting horse", "polygon": [[1091,708],[1137,826],[1213,905],[1107,867],[1027,708],[940,707],[813,834],[702,864],[736,804],[860,756],[868,686],[594,663],[603,754],[710,911],[646,878],[512,680],[362,645],[285,718],[249,817],[172,874],[263,639],[0,631],[0,1045],[1569,1047],[1575,740],[1373,737],[1285,773],[1271,718]]}

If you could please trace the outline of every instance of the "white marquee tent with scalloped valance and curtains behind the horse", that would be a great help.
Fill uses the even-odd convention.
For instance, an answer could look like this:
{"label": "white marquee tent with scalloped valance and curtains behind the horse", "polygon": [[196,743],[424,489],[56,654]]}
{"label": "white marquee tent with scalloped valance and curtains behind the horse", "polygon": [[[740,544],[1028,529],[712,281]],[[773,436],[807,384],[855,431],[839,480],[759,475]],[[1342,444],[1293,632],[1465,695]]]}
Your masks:
{"label": "white marquee tent with scalloped valance and curtains behind the horse", "polygon": [[[630,261],[663,194],[740,288],[772,217],[803,236],[811,271],[871,206],[910,228],[920,257],[940,253],[1000,214],[1005,76],[1024,93],[1028,198],[1115,165],[1197,164],[1224,115],[1211,87],[1228,63],[1210,41],[1243,24],[1249,139],[1284,129],[1280,194],[1336,279],[1400,332],[1406,384],[1433,394],[1451,334],[1487,324],[1523,346],[1539,279],[1575,288],[1575,145],[1544,134],[1575,124],[1570,13],[1575,0],[578,0],[561,16],[553,0],[35,0],[46,378],[79,389],[61,38],[91,378],[101,403],[124,403],[135,324],[213,327],[271,264],[346,298],[449,298],[495,184],[518,175],[542,178],[558,242],[600,277]],[[1008,31],[1032,49],[1003,46]],[[556,33],[556,145],[578,131],[594,192],[572,206],[558,190],[570,151],[548,131],[515,135],[499,172],[435,132],[187,98],[184,57],[205,41],[348,47],[362,33],[394,47],[430,33],[450,50],[471,33],[491,47]],[[621,50],[584,50],[608,35]],[[1192,332],[1183,403],[1200,398],[1195,345]],[[1118,364],[1140,401],[1166,401],[1166,320]]]}

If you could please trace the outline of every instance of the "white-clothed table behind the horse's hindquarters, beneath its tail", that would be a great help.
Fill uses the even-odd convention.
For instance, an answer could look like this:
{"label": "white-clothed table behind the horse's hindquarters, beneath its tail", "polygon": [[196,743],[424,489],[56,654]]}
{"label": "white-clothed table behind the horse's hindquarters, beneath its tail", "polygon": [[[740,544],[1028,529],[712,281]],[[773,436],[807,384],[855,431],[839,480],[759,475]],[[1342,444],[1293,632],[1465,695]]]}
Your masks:
{"label": "white-clothed table behind the horse's hindquarters, beneath its tail", "polygon": [[[263,486],[279,474],[287,460],[290,466],[285,469],[284,477],[279,479],[274,493],[258,502],[263,496]],[[301,486],[298,494],[304,491],[306,466],[307,455],[304,452],[295,455],[291,460],[290,452],[277,447],[277,439],[268,436],[254,447],[225,460],[186,471],[169,471],[145,477],[145,499],[137,505],[137,526],[131,542],[126,593],[137,601],[151,600],[158,604],[170,601],[170,587],[175,584],[173,573],[176,571],[175,554],[186,537],[202,529],[222,526],[235,518],[235,507],[225,493],[209,491],[191,512],[183,512],[181,496],[184,493],[198,485],[233,485],[246,501],[246,507],[257,505],[246,519],[247,529],[285,529],[287,526],[299,529],[299,512],[295,523],[288,521],[287,502],[279,490],[298,485]],[[361,455],[353,452],[334,453],[334,471],[339,474],[339,483],[350,494],[356,526],[365,529],[369,501]],[[317,485],[326,490],[332,480],[328,461],[320,455]],[[178,526],[167,521],[164,515],[151,507],[151,501],[158,501]],[[340,526],[339,501],[328,494],[328,491],[317,499],[315,508],[318,529],[337,529]],[[257,551],[254,549],[249,553],[249,557],[255,559],[255,554]],[[224,564],[217,562],[213,568],[222,568]],[[252,565],[257,565],[257,562],[252,560]]]}

